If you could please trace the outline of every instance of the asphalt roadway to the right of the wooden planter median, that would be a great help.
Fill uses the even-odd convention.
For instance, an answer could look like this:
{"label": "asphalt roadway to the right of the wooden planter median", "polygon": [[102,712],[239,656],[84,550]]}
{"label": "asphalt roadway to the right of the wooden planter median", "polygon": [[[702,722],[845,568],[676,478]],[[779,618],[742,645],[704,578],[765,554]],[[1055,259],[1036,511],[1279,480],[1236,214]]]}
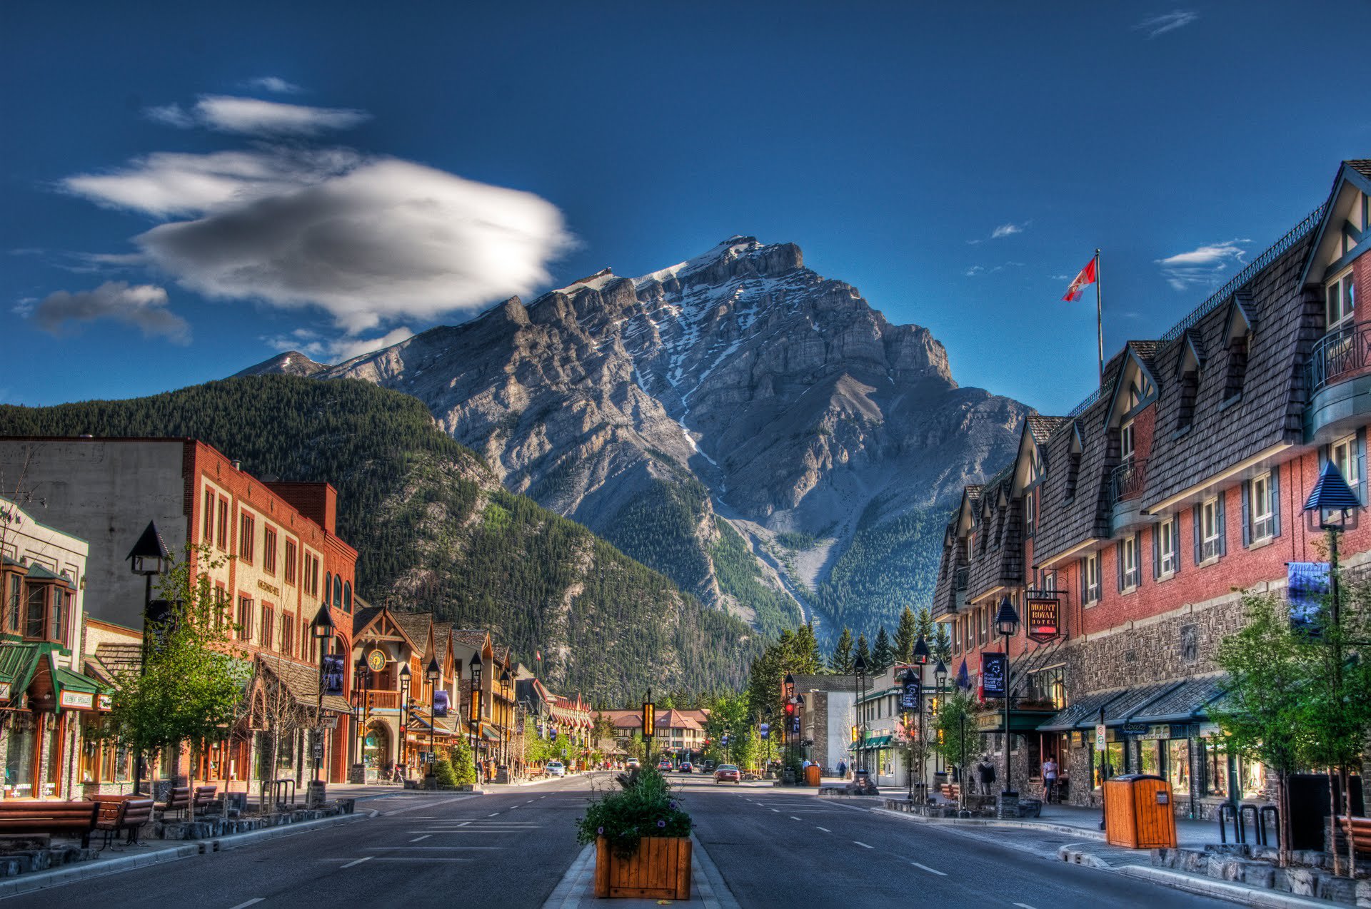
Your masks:
{"label": "asphalt roadway to the right of the wooden planter median", "polygon": [[1056,846],[1035,854],[994,831],[921,827],[802,790],[673,782],[684,783],[695,836],[744,909],[1233,905],[1047,860]]}

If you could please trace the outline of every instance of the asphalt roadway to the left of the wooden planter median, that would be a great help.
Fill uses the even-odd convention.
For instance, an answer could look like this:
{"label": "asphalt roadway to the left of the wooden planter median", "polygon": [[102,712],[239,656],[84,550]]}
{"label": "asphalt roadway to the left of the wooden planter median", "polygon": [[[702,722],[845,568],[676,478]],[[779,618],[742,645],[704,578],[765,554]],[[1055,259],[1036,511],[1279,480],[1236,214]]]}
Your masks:
{"label": "asphalt roadway to the left of the wooden planter median", "polygon": [[[600,780],[605,782],[605,778]],[[95,878],[7,906],[542,906],[576,860],[591,780],[358,802],[370,820]]]}

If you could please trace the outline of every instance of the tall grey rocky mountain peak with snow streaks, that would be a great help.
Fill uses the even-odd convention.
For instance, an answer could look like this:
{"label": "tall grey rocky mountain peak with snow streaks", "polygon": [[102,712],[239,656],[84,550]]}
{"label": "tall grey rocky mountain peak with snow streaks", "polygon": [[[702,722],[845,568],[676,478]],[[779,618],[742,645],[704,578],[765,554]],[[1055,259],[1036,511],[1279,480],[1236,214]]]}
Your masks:
{"label": "tall grey rocky mountain peak with snow streaks", "polygon": [[958,387],[927,329],[753,237],[314,375],[417,397],[507,489],[764,632],[873,630],[927,602],[946,512],[1028,413]]}

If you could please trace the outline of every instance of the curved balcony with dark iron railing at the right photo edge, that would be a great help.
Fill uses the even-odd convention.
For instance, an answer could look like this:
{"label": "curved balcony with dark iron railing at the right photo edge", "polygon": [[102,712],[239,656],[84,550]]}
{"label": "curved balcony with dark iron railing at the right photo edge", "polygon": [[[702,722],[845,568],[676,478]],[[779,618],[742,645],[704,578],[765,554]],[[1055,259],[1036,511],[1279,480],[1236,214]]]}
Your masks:
{"label": "curved balcony with dark iron railing at the right photo edge", "polygon": [[1305,442],[1328,442],[1363,424],[1371,407],[1371,322],[1327,333],[1304,364],[1309,402],[1304,412]]}

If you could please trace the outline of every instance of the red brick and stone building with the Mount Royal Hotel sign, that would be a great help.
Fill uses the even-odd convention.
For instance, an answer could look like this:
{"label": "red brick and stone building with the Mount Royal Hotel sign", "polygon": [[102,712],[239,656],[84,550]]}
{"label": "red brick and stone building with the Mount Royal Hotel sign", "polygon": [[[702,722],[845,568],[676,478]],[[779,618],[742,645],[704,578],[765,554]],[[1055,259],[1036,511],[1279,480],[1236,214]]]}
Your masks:
{"label": "red brick and stone building with the Mount Royal Hotel sign", "polygon": [[[1079,805],[1098,804],[1104,763],[1169,778],[1197,817],[1265,797],[1264,768],[1206,713],[1216,648],[1242,626],[1241,591],[1282,591],[1287,563],[1326,557],[1301,512],[1326,461],[1367,501],[1368,249],[1371,162],[1344,162],[1324,204],[1160,338],[1124,345],[1071,413],[1028,418],[1015,460],[965,489],[934,612],[973,679],[1004,649],[1001,600],[1026,619],[1008,641],[1020,790],[1041,791],[1053,756]],[[1363,520],[1344,567],[1368,550]],[[1060,637],[1028,638],[1028,601],[1056,608]],[[1001,749],[1004,720],[982,720]]]}

